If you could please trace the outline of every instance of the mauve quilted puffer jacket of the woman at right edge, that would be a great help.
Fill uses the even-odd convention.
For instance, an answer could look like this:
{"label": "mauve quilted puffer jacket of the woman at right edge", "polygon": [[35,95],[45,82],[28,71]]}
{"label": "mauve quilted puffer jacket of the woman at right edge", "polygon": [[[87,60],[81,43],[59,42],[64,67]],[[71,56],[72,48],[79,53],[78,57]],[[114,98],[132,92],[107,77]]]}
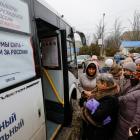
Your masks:
{"label": "mauve quilted puffer jacket of the woman at right edge", "polygon": [[114,140],[127,140],[130,127],[140,127],[140,83],[119,97],[120,113]]}

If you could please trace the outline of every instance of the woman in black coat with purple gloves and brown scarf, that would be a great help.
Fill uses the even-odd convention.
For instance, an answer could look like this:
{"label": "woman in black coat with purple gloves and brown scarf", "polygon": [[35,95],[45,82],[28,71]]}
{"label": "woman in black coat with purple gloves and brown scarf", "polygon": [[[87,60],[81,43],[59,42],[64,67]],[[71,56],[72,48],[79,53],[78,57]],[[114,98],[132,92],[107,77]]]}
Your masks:
{"label": "woman in black coat with purple gloves and brown scarf", "polygon": [[[87,140],[110,140],[118,113],[117,85],[111,74],[97,77],[97,87],[85,103],[82,118],[87,123],[84,133]],[[84,135],[85,136],[85,135]]]}

